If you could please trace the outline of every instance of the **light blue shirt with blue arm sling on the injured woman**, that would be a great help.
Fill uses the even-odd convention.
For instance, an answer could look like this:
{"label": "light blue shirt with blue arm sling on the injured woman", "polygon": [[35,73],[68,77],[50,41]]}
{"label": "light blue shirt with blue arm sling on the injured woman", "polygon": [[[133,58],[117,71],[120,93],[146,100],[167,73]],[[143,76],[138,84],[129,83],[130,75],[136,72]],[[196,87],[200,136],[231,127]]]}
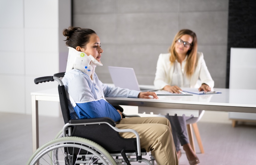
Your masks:
{"label": "light blue shirt with blue arm sling on the injured woman", "polygon": [[77,69],[66,72],[62,81],[76,104],[73,107],[68,101],[71,119],[109,117],[117,122],[121,116],[105,97],[138,98],[140,92],[103,84],[96,73],[92,81],[88,75]]}

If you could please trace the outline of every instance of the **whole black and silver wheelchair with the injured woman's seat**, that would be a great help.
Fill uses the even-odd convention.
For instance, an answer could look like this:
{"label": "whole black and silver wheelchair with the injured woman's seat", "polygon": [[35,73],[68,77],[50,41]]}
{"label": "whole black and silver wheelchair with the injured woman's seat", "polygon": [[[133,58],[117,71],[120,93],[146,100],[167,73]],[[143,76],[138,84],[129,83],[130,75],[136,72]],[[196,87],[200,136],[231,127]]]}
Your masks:
{"label": "whole black and silver wheelchair with the injured woman's seat", "polygon": [[[67,95],[60,79],[64,74],[62,72],[34,79],[35,84],[49,81],[59,83],[58,92],[65,125],[54,140],[45,143],[33,153],[27,165],[131,165],[131,162],[154,165],[153,156],[151,160],[142,158],[147,153],[140,148],[139,134],[135,130],[118,129],[115,127],[116,122],[108,117],[70,119]],[[136,138],[122,138],[119,132],[132,132]],[[131,158],[132,156],[136,158]]]}

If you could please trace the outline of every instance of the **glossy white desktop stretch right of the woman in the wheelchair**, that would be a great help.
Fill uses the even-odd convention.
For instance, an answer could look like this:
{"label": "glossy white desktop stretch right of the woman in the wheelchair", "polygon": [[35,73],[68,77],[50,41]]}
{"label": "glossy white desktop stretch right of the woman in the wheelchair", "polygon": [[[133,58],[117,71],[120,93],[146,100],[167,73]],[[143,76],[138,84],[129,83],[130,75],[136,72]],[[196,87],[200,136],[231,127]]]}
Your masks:
{"label": "glossy white desktop stretch right of the woman in the wheelchair", "polygon": [[256,113],[256,90],[214,88],[221,94],[158,96],[159,99],[106,98],[110,104]]}

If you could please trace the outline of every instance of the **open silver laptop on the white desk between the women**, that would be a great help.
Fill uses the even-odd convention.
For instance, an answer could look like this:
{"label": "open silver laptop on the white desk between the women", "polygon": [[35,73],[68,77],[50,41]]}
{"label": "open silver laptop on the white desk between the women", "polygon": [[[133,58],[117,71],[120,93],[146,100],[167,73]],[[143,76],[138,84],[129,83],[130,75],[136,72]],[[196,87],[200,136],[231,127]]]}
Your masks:
{"label": "open silver laptop on the white desk between the women", "polygon": [[156,91],[153,88],[139,87],[135,72],[131,67],[108,67],[111,79],[116,87],[128,88],[136,91]]}

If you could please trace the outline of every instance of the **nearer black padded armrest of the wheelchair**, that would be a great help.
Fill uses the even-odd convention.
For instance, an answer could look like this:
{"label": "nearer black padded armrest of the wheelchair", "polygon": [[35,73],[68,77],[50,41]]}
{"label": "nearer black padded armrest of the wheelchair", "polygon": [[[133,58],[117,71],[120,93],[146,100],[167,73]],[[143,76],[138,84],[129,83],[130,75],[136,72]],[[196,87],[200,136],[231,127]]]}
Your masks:
{"label": "nearer black padded armrest of the wheelchair", "polygon": [[108,117],[100,117],[100,118],[88,118],[88,119],[71,119],[69,124],[80,124],[80,123],[95,123],[95,122],[107,122],[111,126],[115,127],[116,122]]}

